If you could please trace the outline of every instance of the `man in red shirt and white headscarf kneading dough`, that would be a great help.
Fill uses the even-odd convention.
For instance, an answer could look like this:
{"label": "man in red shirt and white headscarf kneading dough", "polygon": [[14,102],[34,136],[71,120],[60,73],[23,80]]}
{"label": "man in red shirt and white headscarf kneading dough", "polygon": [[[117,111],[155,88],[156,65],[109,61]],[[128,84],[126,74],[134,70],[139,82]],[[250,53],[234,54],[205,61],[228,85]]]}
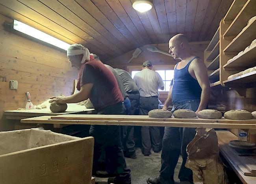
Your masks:
{"label": "man in red shirt and white headscarf kneading dough", "polygon": [[[57,103],[78,103],[91,99],[97,114],[124,114],[124,98],[117,85],[115,76],[104,64],[90,55],[89,50],[80,44],[73,44],[67,50],[71,66],[79,70],[78,93],[67,97],[53,97]],[[130,169],[126,167],[120,142],[120,127],[115,125],[91,125],[90,134],[95,138],[93,170],[98,168],[100,148],[106,151],[109,173],[116,173],[109,178],[108,184],[131,184]]]}

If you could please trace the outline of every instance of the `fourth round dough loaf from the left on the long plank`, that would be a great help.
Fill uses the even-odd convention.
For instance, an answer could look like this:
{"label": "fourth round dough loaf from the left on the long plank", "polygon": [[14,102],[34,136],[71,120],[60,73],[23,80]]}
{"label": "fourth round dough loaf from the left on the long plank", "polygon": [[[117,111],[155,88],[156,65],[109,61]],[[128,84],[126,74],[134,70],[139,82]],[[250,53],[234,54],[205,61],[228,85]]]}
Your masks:
{"label": "fourth round dough loaf from the left on the long plank", "polygon": [[224,118],[229,120],[250,120],[252,119],[252,113],[247,110],[229,110],[224,113]]}

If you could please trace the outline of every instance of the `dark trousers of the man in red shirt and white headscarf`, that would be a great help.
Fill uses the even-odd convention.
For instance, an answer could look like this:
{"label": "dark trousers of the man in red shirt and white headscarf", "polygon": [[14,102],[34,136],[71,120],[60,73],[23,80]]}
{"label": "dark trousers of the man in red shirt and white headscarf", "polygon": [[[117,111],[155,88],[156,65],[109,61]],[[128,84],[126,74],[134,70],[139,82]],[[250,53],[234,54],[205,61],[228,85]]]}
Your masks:
{"label": "dark trousers of the man in red shirt and white headscarf", "polygon": [[[109,105],[98,110],[97,114],[124,114],[122,103]],[[120,140],[120,126],[116,125],[91,125],[90,136],[95,138],[93,154],[93,170],[98,170],[98,160],[102,148],[106,152],[106,171],[116,173],[116,179],[123,184],[131,183],[130,169],[126,167],[122,144]]]}

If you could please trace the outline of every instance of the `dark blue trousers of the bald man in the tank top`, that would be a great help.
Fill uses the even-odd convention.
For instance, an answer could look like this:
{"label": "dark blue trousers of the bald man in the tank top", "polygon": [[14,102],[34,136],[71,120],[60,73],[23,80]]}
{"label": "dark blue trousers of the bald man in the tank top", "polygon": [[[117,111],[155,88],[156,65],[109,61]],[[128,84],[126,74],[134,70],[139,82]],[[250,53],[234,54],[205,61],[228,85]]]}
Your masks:
{"label": "dark blue trousers of the bald man in the tank top", "polygon": [[[174,103],[171,112],[177,109],[190,109],[196,111],[200,100],[189,100],[182,103]],[[187,145],[195,137],[195,128],[187,127],[165,127],[163,136],[163,148],[161,153],[160,182],[174,183],[174,169],[178,163],[180,153],[182,155],[182,165],[178,178],[180,181],[193,181],[191,169],[185,167],[187,161]]]}

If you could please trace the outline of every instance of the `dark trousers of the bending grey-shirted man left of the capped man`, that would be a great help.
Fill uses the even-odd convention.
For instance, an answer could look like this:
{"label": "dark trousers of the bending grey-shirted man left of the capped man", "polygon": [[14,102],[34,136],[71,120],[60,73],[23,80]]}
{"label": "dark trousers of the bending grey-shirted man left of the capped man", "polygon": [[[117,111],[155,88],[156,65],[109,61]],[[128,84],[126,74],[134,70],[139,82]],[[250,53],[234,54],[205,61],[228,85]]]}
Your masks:
{"label": "dark trousers of the bending grey-shirted man left of the capped man", "polygon": [[[135,110],[139,105],[139,94],[128,94],[131,107],[127,115],[134,115]],[[123,147],[126,152],[135,151],[135,142],[134,142],[134,126],[122,126],[123,128]]]}

